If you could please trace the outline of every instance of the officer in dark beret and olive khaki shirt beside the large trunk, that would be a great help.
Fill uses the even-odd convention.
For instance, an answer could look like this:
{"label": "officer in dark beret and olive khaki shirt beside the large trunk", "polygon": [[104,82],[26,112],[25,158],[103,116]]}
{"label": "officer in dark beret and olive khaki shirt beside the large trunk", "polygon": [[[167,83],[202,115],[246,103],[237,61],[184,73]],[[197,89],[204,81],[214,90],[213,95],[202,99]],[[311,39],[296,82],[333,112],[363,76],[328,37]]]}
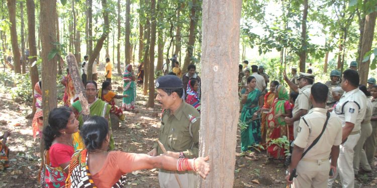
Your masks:
{"label": "officer in dark beret and olive khaki shirt beside the large trunk", "polygon": [[[199,155],[200,114],[190,104],[183,101],[182,81],[174,75],[165,75],[156,80],[156,100],[164,109],[161,118],[159,140],[167,150],[167,155],[175,158],[195,158]],[[163,154],[157,143],[148,155]],[[192,171],[176,172],[183,187],[196,187],[197,176]],[[160,187],[179,187],[174,171],[160,169]]]}

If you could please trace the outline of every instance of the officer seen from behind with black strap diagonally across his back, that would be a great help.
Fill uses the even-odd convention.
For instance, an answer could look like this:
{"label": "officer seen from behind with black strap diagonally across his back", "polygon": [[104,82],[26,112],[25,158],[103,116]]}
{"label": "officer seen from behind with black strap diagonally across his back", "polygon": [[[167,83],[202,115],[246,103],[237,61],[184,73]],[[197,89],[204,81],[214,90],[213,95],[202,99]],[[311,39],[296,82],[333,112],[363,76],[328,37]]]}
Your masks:
{"label": "officer seen from behind with black strap diagonally across his back", "polygon": [[[293,148],[290,172],[297,169],[293,187],[326,187],[330,168],[336,171],[339,145],[342,141],[342,121],[330,114],[326,129],[315,145],[301,159],[303,152],[322,132],[327,119],[326,96],[328,88],[322,83],[311,87],[310,101],[313,108],[300,120],[299,131]],[[331,152],[331,165],[329,156]],[[300,160],[301,159],[301,160]],[[290,184],[289,176],[286,177]]]}

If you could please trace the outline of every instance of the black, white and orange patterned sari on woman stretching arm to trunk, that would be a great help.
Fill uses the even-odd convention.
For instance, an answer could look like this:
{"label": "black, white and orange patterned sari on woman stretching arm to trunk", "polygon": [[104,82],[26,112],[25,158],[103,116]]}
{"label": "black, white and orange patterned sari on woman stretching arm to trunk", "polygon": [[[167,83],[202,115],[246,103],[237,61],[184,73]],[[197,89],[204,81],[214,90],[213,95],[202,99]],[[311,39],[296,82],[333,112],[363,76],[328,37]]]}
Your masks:
{"label": "black, white and orange patterned sari on woman stretching arm to trunk", "polygon": [[[69,163],[68,177],[65,183],[66,188],[84,188],[97,187],[87,165],[88,152],[86,149],[76,151]],[[126,184],[126,176],[122,175],[118,182],[112,187],[124,187]]]}

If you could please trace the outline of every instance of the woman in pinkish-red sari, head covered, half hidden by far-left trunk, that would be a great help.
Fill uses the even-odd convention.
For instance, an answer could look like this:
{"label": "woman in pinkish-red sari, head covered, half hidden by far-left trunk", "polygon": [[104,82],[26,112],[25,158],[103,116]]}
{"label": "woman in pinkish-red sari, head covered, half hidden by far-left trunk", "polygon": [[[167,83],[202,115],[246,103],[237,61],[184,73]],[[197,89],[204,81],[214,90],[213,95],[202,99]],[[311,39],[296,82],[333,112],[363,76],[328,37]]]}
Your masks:
{"label": "woman in pinkish-red sari, head covered, half hidden by far-left trunk", "polygon": [[42,111],[42,81],[39,81],[34,86],[34,99],[35,99],[35,114],[32,121],[33,138],[34,141],[39,134],[39,138],[42,138],[43,129],[43,111]]}

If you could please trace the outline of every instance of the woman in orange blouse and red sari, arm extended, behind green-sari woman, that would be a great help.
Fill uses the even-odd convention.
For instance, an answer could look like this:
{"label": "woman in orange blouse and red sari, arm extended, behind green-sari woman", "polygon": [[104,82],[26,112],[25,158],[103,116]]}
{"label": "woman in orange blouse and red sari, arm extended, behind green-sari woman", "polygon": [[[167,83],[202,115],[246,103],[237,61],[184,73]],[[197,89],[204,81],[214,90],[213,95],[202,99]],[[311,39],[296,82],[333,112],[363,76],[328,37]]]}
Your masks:
{"label": "woman in orange blouse and red sari, arm extended, behind green-sari woman", "polygon": [[108,102],[111,105],[110,113],[113,113],[118,116],[119,120],[124,121],[124,114],[121,108],[115,105],[114,99],[126,98],[128,95],[117,95],[112,92],[111,82],[104,81],[102,83],[102,88],[98,92],[98,98],[102,99],[105,102]]}

